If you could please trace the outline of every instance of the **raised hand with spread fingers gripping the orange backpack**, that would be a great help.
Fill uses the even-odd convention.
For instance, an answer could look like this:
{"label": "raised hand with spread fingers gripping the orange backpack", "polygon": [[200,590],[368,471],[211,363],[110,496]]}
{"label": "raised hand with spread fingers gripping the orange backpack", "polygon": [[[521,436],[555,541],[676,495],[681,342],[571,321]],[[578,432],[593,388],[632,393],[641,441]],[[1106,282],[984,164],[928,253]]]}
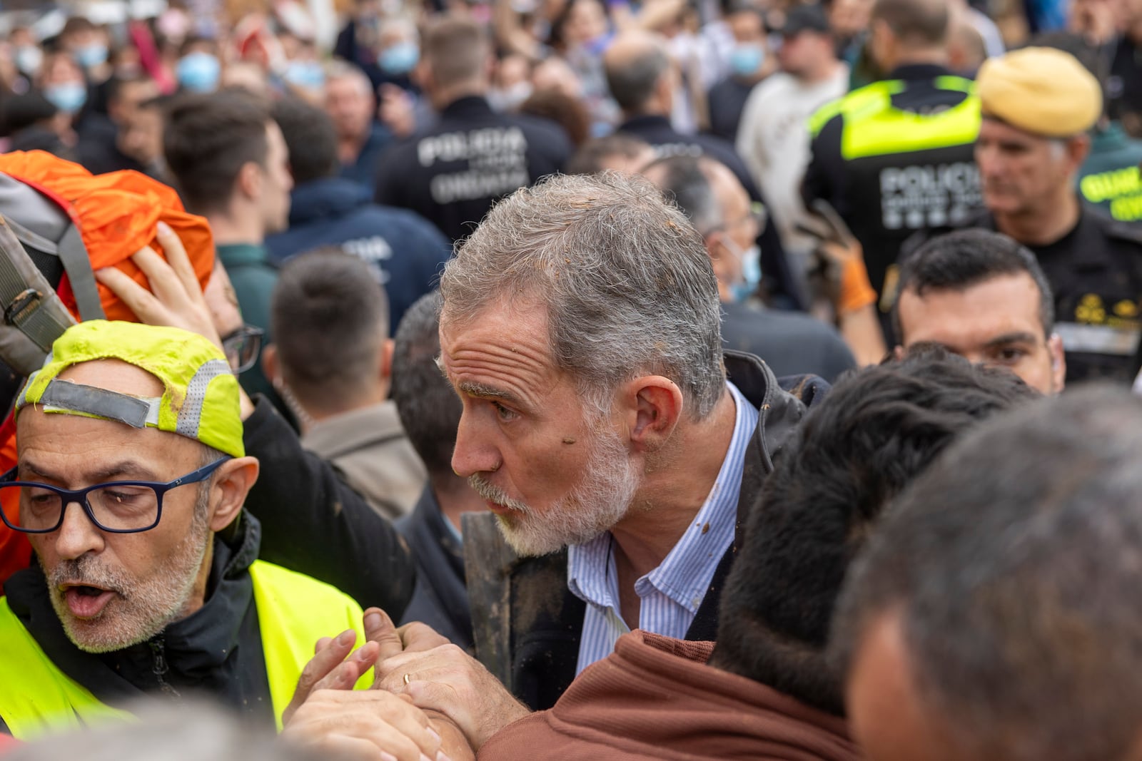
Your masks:
{"label": "raised hand with spread fingers gripping the orange backpack", "polygon": [[131,261],[146,275],[151,284],[150,291],[115,267],[97,269],[95,278],[111,289],[139,322],[182,327],[204,335],[222,348],[218,329],[210,317],[210,309],[183,242],[166,222],[159,222],[156,237],[167,254],[166,260],[151,246],[131,257]]}

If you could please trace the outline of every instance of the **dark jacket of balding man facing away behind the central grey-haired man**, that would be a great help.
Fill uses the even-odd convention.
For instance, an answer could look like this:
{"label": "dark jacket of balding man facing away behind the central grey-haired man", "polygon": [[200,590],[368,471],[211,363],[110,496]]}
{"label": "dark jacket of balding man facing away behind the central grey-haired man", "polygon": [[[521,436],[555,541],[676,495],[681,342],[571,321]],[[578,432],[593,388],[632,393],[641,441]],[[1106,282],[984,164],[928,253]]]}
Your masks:
{"label": "dark jacket of balding man facing away behind the central grey-haired man", "polygon": [[[753,201],[765,204],[757,184],[749,175],[749,169],[738,155],[733,145],[713,135],[683,135],[673,127],[666,116],[643,115],[628,119],[618,131],[633,135],[650,143],[659,157],[677,155],[708,155],[723,163],[734,173]],[[770,293],[780,296],[785,305],[793,309],[804,309],[809,303],[802,293],[799,280],[794,277],[793,268],[786,258],[785,246],[778,235],[777,225],[766,225],[757,238],[762,248],[762,272],[769,282],[763,281],[763,288]]]}

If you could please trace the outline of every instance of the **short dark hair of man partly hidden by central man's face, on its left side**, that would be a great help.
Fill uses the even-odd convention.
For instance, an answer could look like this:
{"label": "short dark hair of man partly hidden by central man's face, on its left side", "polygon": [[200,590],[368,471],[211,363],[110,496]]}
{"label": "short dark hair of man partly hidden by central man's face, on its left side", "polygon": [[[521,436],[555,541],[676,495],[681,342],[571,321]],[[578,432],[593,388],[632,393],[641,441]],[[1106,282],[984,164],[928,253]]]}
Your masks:
{"label": "short dark hair of man partly hidden by central man's face, on its left side", "polygon": [[464,406],[436,365],[440,356],[440,291],[417,299],[396,329],[393,402],[401,424],[431,477],[452,472],[452,450]]}

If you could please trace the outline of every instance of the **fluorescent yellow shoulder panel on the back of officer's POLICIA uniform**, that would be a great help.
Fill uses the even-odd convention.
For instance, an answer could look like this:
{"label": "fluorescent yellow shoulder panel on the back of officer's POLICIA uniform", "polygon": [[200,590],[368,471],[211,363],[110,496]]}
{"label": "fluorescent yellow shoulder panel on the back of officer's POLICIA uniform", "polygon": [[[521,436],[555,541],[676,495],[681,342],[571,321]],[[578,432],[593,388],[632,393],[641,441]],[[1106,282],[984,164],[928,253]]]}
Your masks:
{"label": "fluorescent yellow shoulder panel on the back of officer's POLICIA uniform", "polygon": [[980,99],[971,80],[938,76],[935,87],[966,94],[960,103],[933,113],[912,113],[892,105],[903,80],[872,82],[821,106],[809,121],[815,137],[833,118],[843,115],[841,155],[846,160],[972,143],[980,133]]}

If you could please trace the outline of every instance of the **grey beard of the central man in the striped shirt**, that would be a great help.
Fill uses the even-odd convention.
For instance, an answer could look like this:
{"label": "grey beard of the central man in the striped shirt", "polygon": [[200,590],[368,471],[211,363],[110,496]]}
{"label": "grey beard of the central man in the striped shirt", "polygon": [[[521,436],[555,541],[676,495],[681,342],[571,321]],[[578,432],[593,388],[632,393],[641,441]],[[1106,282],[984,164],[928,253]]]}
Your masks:
{"label": "grey beard of the central man in the striped shirt", "polygon": [[513,510],[497,518],[500,533],[517,554],[549,554],[569,544],[584,544],[612,529],[629,512],[642,477],[617,434],[604,430],[592,438],[582,480],[542,515],[478,473],[468,479],[482,497]]}

